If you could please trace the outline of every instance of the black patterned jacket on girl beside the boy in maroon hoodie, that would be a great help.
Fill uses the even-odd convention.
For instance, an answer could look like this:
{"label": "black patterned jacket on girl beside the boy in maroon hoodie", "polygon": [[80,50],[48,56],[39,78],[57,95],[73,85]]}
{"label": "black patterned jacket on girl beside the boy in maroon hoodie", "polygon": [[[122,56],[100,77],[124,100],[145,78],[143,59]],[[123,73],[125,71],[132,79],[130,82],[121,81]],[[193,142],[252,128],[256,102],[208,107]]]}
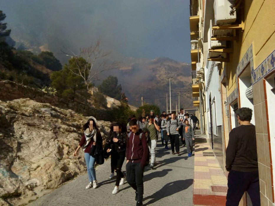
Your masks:
{"label": "black patterned jacket on girl beside the boy in maroon hoodie", "polygon": [[[113,142],[113,138],[117,138],[118,142]],[[106,149],[112,149],[111,152],[124,152],[127,145],[127,134],[121,133],[117,134],[116,132],[110,132],[106,140]]]}

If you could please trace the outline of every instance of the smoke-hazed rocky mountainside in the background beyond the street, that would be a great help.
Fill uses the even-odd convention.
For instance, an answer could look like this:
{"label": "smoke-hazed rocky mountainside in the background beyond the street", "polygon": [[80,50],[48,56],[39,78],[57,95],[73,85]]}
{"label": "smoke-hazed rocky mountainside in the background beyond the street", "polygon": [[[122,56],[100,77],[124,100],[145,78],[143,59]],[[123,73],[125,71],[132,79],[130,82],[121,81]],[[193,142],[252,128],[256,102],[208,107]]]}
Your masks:
{"label": "smoke-hazed rocky mountainside in the background beyond the street", "polygon": [[[124,58],[121,69],[110,72],[118,77],[119,84],[129,99],[129,104],[141,106],[141,97],[147,103],[157,104],[161,110],[166,110],[166,93],[169,97],[169,76],[171,79],[172,109],[180,107],[193,108],[192,77],[190,64],[177,62],[167,57],[153,60]],[[183,95],[185,93],[189,93]],[[173,97],[176,96],[176,97]],[[169,100],[168,100],[168,108]]]}

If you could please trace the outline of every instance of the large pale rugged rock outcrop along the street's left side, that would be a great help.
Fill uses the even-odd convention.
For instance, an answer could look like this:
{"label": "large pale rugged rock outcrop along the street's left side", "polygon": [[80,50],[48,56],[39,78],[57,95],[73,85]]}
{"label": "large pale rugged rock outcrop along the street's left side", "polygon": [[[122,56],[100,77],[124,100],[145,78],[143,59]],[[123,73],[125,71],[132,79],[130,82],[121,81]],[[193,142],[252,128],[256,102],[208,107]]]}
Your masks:
{"label": "large pale rugged rock outcrop along the street's left side", "polygon": [[[82,149],[73,153],[88,118],[31,99],[0,101],[0,197],[15,204],[85,172]],[[111,123],[96,122],[104,139]]]}

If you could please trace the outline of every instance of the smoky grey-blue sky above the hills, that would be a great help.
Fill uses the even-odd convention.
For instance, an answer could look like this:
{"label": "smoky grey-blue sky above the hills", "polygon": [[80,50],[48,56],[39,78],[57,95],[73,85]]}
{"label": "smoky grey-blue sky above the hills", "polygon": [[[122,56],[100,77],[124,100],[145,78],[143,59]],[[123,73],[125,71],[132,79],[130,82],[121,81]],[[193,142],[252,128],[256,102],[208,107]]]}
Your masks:
{"label": "smoky grey-blue sky above the hills", "polygon": [[1,0],[0,9],[11,37],[35,34],[53,50],[78,49],[100,36],[104,48],[126,57],[190,63],[187,0]]}

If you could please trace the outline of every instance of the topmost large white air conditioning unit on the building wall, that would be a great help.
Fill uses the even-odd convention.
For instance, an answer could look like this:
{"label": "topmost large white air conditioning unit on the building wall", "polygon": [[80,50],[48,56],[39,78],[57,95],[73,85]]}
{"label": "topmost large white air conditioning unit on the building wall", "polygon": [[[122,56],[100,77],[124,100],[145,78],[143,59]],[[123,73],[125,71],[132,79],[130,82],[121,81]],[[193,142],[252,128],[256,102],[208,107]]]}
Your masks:
{"label": "topmost large white air conditioning unit on the building wall", "polygon": [[230,14],[232,6],[235,0],[215,0],[214,1],[214,12],[215,12],[215,24],[216,25],[227,25],[236,21],[236,11]]}

